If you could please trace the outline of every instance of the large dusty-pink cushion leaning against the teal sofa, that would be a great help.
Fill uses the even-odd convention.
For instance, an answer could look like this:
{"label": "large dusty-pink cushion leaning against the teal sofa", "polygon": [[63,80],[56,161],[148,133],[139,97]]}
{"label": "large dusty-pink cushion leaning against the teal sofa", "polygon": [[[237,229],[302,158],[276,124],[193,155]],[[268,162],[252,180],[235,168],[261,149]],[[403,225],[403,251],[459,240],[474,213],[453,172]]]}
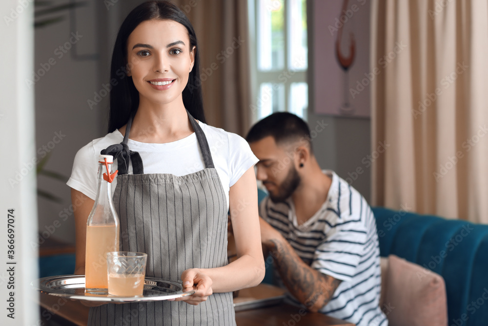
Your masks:
{"label": "large dusty-pink cushion leaning against the teal sofa", "polygon": [[390,326],[446,326],[446,284],[439,274],[394,255],[388,257],[382,306]]}

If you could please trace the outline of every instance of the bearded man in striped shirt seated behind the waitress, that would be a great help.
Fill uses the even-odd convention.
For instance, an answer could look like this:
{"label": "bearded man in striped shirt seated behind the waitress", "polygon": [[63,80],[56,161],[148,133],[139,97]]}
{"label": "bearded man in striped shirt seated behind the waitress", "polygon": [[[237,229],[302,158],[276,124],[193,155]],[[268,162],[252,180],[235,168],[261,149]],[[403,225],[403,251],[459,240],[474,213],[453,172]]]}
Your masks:
{"label": "bearded man in striped shirt seated behind the waitress", "polygon": [[386,326],[376,222],[366,199],[320,168],[310,130],[294,114],[271,114],[246,140],[269,193],[259,209],[263,249],[289,299],[358,326]]}

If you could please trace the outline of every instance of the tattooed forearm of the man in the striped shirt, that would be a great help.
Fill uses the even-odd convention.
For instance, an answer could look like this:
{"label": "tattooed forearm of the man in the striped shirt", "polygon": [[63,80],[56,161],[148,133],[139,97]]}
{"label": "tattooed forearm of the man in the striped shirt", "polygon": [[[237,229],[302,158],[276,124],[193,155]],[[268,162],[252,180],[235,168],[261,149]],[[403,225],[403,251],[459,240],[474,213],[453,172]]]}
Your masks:
{"label": "tattooed forearm of the man in the striped shirt", "polygon": [[264,251],[273,257],[286,288],[308,310],[319,311],[332,298],[341,281],[305,264],[278,231],[263,218],[259,219]]}

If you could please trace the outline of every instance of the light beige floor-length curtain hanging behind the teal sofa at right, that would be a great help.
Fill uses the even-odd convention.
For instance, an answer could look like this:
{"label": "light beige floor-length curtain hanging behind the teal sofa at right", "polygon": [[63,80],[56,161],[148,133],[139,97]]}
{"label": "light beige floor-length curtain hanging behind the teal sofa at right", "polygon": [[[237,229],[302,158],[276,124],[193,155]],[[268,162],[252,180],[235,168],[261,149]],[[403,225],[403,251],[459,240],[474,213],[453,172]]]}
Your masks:
{"label": "light beige floor-length curtain hanging behind the teal sofa at right", "polygon": [[486,0],[373,0],[372,204],[488,223]]}

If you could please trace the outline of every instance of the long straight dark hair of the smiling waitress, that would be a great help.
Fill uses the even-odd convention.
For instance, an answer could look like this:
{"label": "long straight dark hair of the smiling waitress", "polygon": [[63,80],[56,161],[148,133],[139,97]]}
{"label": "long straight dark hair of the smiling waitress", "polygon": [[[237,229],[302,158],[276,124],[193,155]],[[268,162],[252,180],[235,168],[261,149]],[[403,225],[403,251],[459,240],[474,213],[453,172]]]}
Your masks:
{"label": "long straight dark hair of the smiling waitress", "polygon": [[[205,122],[203,114],[202,83],[200,81],[200,56],[198,54],[197,37],[193,26],[176,5],[169,1],[147,1],[134,8],[122,22],[112,53],[110,80],[117,80],[110,90],[110,111],[108,132],[121,128],[127,123],[131,114],[135,114],[139,106],[139,92],[134,86],[132,77],[126,76],[127,39],[136,27],[152,19],[179,22],[186,27],[190,39],[190,49],[196,47],[195,63],[188,76],[188,83],[183,89],[183,105],[190,114]],[[122,80],[121,80],[122,79]]]}

